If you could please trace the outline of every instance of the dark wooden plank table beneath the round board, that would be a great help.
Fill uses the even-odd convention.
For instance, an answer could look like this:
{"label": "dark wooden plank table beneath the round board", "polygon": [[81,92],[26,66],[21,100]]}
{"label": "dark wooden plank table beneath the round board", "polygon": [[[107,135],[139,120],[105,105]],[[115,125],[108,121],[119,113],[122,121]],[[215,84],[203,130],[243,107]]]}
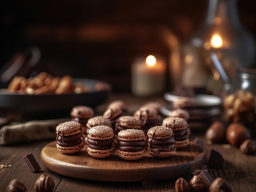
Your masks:
{"label": "dark wooden plank table beneath the round board", "polygon": [[[110,98],[126,98],[126,102],[130,104],[130,108],[137,108],[151,99],[135,99],[132,96],[114,95]],[[132,102],[131,102],[132,100]],[[159,102],[164,102],[161,98],[155,98]],[[102,111],[106,105],[98,108]],[[192,138],[201,137],[203,135],[196,133]],[[0,192],[4,191],[8,183],[12,179],[22,181],[27,187],[27,191],[34,191],[34,183],[41,174],[49,174],[54,179],[56,192],[94,192],[94,191],[174,191],[175,179],[154,181],[154,182],[132,182],[132,183],[117,183],[117,182],[103,182],[103,181],[89,181],[64,177],[62,175],[51,172],[43,166],[40,161],[40,151],[49,141],[40,141],[27,144],[19,144],[13,146],[0,146],[0,165],[12,165],[11,168],[6,168],[5,171],[0,171]],[[221,152],[225,159],[222,169],[209,169],[213,178],[222,177],[229,181],[233,191],[239,192],[255,192],[256,191],[256,156],[247,156],[240,152],[239,149],[230,145],[214,144],[208,145],[205,143],[207,156],[212,148]],[[32,173],[27,167],[23,157],[32,152],[37,159],[40,167],[39,172]],[[136,177],[136,176],[135,176]],[[190,174],[184,176],[189,179]]]}

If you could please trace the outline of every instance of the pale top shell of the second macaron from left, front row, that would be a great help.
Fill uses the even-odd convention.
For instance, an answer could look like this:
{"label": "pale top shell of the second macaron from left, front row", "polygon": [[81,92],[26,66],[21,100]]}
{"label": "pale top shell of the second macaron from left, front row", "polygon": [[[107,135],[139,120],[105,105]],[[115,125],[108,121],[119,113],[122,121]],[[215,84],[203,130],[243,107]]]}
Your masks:
{"label": "pale top shell of the second macaron from left, front row", "polygon": [[95,126],[90,128],[87,137],[90,139],[98,140],[111,139],[112,137],[114,137],[114,131],[110,126]]}

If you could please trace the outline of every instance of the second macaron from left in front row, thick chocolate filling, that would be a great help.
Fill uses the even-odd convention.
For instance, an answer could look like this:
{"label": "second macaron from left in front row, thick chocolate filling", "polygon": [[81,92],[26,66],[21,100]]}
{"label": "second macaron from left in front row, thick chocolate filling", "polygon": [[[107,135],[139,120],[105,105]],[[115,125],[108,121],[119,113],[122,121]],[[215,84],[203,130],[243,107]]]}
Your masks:
{"label": "second macaron from left in front row, thick chocolate filling", "polygon": [[110,126],[95,126],[88,132],[87,152],[90,156],[96,158],[109,157],[114,151],[113,147],[114,132]]}

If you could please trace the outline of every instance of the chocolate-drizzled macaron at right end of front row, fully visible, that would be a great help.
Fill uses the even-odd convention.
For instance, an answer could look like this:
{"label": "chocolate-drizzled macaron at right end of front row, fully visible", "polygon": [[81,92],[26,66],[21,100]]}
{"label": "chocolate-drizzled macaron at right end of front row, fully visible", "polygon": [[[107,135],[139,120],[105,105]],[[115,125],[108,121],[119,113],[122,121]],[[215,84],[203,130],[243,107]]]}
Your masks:
{"label": "chocolate-drizzled macaron at right end of front row, fully visible", "polygon": [[173,130],[165,126],[155,126],[147,133],[148,153],[153,157],[171,157],[176,152]]}

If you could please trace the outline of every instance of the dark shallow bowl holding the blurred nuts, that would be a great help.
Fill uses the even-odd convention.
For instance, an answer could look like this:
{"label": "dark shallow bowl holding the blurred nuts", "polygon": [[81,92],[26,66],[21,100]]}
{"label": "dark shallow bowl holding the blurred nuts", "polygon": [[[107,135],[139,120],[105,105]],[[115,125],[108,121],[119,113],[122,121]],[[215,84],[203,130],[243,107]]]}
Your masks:
{"label": "dark shallow bowl holding the blurred nuts", "polygon": [[[12,94],[7,90],[0,90],[0,112],[1,115],[7,113],[20,113],[22,118],[45,119],[68,117],[72,107],[85,105],[90,107],[98,106],[105,102],[110,94],[111,86],[105,82],[103,90],[96,90],[97,80],[74,79],[74,82],[81,82],[91,88],[91,92],[81,94],[46,94],[46,95],[20,95]],[[4,114],[5,113],[5,114]]]}

